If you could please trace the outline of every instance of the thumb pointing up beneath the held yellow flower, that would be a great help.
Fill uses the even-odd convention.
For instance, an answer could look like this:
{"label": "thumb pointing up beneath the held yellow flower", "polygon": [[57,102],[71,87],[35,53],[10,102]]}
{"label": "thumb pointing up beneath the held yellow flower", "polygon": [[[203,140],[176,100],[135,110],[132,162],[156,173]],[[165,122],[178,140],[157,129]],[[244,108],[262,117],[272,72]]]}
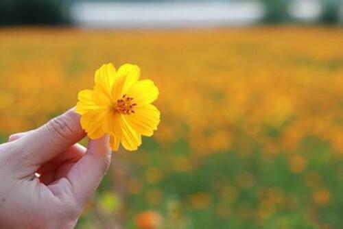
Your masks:
{"label": "thumb pointing up beneath the held yellow flower", "polygon": [[110,165],[108,136],[90,140],[86,154],[71,167],[67,179],[79,204],[84,204],[99,186]]}

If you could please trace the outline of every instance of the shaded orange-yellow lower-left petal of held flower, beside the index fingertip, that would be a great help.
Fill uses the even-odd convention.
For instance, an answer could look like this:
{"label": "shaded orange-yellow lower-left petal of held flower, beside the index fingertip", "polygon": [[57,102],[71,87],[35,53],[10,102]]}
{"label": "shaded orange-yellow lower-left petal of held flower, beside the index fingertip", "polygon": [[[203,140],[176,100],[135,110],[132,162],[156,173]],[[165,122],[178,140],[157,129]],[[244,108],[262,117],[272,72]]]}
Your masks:
{"label": "shaded orange-yellow lower-left petal of held flower, beside the index fingertip", "polygon": [[91,110],[82,115],[80,123],[89,138],[97,139],[105,134],[102,125],[106,115],[108,115],[108,110],[105,109]]}

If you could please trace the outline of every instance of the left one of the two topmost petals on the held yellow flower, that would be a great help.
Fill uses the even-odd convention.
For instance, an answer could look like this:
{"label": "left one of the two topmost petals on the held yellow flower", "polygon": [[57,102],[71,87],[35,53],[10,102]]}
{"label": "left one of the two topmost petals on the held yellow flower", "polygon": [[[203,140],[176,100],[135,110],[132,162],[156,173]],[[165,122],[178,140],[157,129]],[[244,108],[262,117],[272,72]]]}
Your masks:
{"label": "left one of the two topmost petals on the held yellow flower", "polygon": [[95,85],[101,87],[105,95],[111,97],[115,77],[116,71],[113,64],[103,64],[95,71]]}

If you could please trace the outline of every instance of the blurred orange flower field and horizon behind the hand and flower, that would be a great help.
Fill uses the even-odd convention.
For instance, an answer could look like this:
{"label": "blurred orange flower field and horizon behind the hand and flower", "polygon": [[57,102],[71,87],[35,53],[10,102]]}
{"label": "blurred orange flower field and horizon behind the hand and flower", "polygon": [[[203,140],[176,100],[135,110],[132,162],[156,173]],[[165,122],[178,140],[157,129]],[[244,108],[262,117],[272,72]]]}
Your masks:
{"label": "blurred orange flower field and horizon behind the hand and flower", "polygon": [[343,1],[0,0],[0,25],[1,143],[103,63],[160,88],[77,228],[343,228]]}

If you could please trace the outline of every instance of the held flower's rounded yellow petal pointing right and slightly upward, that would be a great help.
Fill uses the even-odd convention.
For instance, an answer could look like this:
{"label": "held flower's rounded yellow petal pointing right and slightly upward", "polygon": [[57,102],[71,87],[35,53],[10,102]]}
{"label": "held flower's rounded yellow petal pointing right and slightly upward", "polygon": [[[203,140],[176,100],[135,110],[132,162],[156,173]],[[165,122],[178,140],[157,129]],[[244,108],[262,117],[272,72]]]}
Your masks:
{"label": "held flower's rounded yellow petal pointing right and slightly upward", "polygon": [[140,80],[128,91],[128,96],[134,99],[137,106],[145,106],[157,99],[158,88],[151,80]]}

